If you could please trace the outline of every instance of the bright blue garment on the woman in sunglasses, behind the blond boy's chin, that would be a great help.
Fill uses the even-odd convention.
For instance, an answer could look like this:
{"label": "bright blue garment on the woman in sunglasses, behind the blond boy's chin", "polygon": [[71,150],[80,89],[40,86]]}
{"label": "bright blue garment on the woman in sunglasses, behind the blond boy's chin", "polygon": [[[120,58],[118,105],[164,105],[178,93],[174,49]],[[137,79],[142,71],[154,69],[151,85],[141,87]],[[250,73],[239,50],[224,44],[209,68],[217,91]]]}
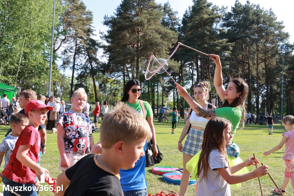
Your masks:
{"label": "bright blue garment on the woman in sunglasses, behind the blond boy's chin", "polygon": [[[148,144],[146,142],[144,149],[146,149],[147,146]],[[140,157],[140,159],[135,163],[135,167],[128,170],[119,170],[119,175],[121,176],[121,188],[123,191],[142,190],[148,188],[145,178],[145,162],[146,156],[143,156]]]}

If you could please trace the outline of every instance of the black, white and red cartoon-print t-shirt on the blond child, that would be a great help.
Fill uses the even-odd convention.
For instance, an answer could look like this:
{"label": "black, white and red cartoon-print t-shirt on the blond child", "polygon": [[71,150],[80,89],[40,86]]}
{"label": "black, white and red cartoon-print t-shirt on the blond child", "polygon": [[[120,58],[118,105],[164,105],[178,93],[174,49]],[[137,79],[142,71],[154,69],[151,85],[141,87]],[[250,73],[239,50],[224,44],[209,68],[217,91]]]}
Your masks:
{"label": "black, white and red cartoon-print t-shirt on the blond child", "polygon": [[65,152],[81,155],[90,152],[90,137],[96,132],[96,127],[89,116],[69,110],[61,114],[58,123],[65,131]]}

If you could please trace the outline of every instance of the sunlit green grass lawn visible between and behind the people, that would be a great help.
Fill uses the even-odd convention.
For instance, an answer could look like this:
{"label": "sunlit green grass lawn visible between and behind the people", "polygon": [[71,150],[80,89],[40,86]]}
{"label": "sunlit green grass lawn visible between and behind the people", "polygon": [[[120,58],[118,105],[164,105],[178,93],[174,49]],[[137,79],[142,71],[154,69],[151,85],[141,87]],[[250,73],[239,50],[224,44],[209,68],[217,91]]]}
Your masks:
{"label": "sunlit green grass lawn visible between and behind the people", "polygon": [[[92,118],[93,119],[93,118]],[[100,120],[100,119],[99,119]],[[100,125],[100,122],[99,122]],[[156,130],[156,139],[159,146],[159,150],[163,154],[163,160],[160,164],[162,166],[174,166],[183,168],[183,155],[178,151],[178,138],[180,137],[181,131],[184,126],[184,121],[180,120],[178,122],[178,127],[176,128],[177,134],[171,134],[171,121],[166,123],[154,123]],[[5,133],[8,131],[9,127],[1,125],[0,126],[0,140],[4,138]],[[238,144],[240,147],[240,157],[243,160],[249,157],[255,156],[264,165],[268,165],[269,172],[278,186],[282,185],[284,179],[285,162],[282,160],[284,155],[284,149],[278,150],[267,157],[263,156],[263,152],[270,150],[279,144],[282,139],[282,133],[285,132],[283,126],[280,124],[274,124],[273,135],[268,135],[268,129],[265,125],[245,125],[245,129],[237,130],[233,142]],[[99,131],[93,134],[95,143],[99,140]],[[184,142],[183,142],[184,144]],[[56,178],[61,170],[58,169],[59,163],[59,151],[57,147],[56,134],[51,134],[47,132],[47,143],[46,143],[46,154],[42,155],[41,166],[49,170],[51,177]],[[0,170],[3,170],[4,160],[1,165]],[[179,192],[180,186],[171,185],[162,180],[162,177],[155,175],[151,172],[152,167],[146,168],[146,179],[148,183],[148,193],[155,194],[164,190],[166,193],[169,190]],[[255,166],[250,166],[249,170],[253,171]],[[261,186],[263,188],[263,195],[277,195],[271,190],[275,188],[273,182],[270,180],[268,175],[260,178]],[[3,182],[1,183],[3,185]],[[1,191],[2,192],[2,191]],[[289,182],[287,189],[287,195],[294,195],[291,181]],[[190,185],[188,187],[186,195],[194,195],[195,186]],[[40,192],[39,195],[53,195],[51,192]],[[208,193],[209,195],[209,193]],[[242,187],[238,190],[232,190],[232,195],[261,195],[258,185],[258,179],[249,180],[242,183]]]}

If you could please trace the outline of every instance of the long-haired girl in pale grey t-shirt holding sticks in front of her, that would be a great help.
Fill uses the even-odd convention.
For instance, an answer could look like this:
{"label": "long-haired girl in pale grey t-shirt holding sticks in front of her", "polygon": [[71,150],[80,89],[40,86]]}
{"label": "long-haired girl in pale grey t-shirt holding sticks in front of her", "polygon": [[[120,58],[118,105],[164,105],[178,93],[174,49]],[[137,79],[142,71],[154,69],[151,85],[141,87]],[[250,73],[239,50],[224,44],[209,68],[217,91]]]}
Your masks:
{"label": "long-haired girl in pale grey t-shirt holding sticks in front of her", "polygon": [[[196,177],[199,178],[197,195],[231,195],[230,185],[245,182],[268,173],[266,165],[253,172],[232,175],[243,167],[259,163],[254,157],[238,165],[229,166],[225,145],[230,143],[232,124],[224,118],[212,118],[208,121],[199,156]],[[230,167],[230,168],[229,168]]]}

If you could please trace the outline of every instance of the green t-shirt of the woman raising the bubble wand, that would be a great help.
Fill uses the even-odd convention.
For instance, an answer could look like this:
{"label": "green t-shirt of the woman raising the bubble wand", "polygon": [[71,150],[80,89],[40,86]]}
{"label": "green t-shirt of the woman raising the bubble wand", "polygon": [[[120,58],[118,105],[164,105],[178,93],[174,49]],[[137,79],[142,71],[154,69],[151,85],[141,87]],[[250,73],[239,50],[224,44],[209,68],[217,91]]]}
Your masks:
{"label": "green t-shirt of the woman raising the bubble wand", "polygon": [[234,137],[236,129],[239,127],[243,109],[240,107],[220,107],[216,108],[215,112],[217,117],[225,118],[232,123],[233,129],[231,134]]}

